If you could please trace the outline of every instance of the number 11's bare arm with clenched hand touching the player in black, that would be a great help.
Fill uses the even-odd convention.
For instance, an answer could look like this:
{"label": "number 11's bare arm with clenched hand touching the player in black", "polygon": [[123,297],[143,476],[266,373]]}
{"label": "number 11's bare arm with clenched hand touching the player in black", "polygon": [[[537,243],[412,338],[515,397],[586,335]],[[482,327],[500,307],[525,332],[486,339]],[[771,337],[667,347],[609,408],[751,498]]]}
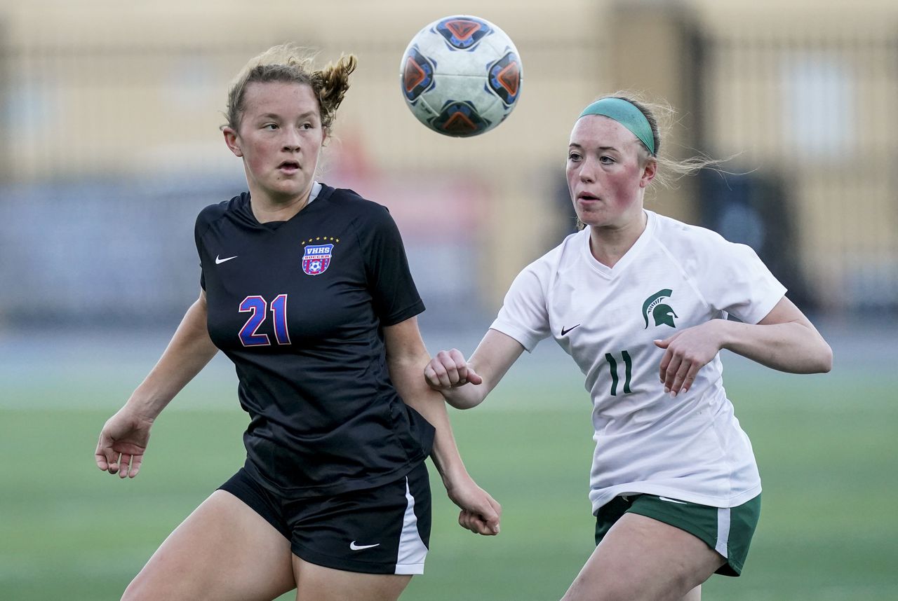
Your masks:
{"label": "number 11's bare arm with clenched hand touching the player in black", "polygon": [[509,335],[490,329],[465,361],[458,349],[440,351],[427,363],[424,378],[456,409],[480,405],[496,388],[508,368],[524,352],[524,345]]}

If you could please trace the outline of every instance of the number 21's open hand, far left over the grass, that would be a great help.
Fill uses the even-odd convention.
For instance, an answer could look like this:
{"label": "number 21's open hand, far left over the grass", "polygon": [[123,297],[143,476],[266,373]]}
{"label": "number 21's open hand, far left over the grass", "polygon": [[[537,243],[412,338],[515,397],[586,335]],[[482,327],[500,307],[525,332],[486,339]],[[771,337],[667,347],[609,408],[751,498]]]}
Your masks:
{"label": "number 21's open hand, far left over the grass", "polygon": [[94,458],[104,472],[120,478],[137,475],[144,461],[146,443],[150,440],[151,420],[122,407],[103,425]]}

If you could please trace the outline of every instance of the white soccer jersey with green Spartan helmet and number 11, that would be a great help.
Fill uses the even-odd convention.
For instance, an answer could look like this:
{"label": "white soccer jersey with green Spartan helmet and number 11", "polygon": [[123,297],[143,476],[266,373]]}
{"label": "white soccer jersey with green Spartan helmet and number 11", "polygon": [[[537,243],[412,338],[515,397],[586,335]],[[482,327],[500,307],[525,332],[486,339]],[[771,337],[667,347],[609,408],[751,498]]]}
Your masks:
{"label": "white soccer jersey with green Spartan helmet and number 11", "polygon": [[588,227],[569,235],[518,274],[491,327],[528,351],[552,336],[583,371],[593,511],[638,492],[735,507],[761,492],[761,478],[720,357],[671,398],[653,341],[728,314],[757,323],[786,289],[752,248],[646,213],[646,231],[613,268],[593,257]]}

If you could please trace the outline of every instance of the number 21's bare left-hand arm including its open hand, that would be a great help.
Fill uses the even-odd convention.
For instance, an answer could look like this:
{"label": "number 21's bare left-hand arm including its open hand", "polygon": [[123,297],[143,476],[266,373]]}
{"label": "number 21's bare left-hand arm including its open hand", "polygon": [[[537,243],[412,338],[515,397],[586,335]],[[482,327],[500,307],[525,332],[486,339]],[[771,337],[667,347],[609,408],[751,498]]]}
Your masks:
{"label": "number 21's bare left-hand arm including its open hand", "polygon": [[137,475],[156,417],[218,351],[206,317],[206,291],[201,291],[153,370],[103,425],[94,457],[101,470],[122,478]]}

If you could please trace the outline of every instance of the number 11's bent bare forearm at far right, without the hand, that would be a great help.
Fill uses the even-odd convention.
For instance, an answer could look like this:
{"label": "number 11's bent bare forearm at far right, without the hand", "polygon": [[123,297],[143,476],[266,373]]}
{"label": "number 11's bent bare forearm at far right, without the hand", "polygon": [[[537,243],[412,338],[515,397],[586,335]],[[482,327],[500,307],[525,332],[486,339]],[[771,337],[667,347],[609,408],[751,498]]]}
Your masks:
{"label": "number 11's bent bare forearm at far right, without the hand", "polygon": [[774,370],[820,373],[832,369],[832,349],[786,298],[757,325],[720,321],[722,348]]}

